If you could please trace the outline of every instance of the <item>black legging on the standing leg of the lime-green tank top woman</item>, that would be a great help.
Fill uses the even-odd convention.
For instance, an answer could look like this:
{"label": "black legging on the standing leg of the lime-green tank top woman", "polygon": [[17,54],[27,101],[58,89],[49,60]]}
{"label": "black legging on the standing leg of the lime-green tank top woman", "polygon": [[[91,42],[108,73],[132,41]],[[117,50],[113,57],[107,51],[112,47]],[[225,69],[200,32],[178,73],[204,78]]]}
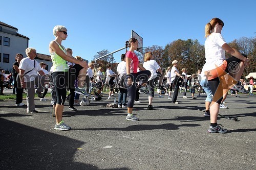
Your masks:
{"label": "black legging on the standing leg of the lime-green tank top woman", "polygon": [[58,71],[52,73],[57,104],[64,105],[67,95],[68,72]]}

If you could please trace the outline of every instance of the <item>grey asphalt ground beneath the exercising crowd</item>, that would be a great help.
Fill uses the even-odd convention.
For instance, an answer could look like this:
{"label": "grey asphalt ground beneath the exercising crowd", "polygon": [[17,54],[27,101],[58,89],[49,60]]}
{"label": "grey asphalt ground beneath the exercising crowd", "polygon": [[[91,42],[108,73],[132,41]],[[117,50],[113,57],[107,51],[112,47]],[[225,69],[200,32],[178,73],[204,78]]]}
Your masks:
{"label": "grey asphalt ground beneath the exercising crowd", "polygon": [[179,104],[172,104],[167,95],[155,96],[155,110],[147,110],[147,96],[140,95],[138,122],[125,120],[126,109],[102,107],[117,93],[113,100],[104,94],[90,106],[75,106],[77,111],[65,106],[70,131],[53,129],[50,98],[35,99],[36,114],[0,101],[0,169],[256,169],[255,95],[228,95],[228,109],[220,114],[238,121],[218,118],[227,134],[207,132],[204,98],[179,93]]}

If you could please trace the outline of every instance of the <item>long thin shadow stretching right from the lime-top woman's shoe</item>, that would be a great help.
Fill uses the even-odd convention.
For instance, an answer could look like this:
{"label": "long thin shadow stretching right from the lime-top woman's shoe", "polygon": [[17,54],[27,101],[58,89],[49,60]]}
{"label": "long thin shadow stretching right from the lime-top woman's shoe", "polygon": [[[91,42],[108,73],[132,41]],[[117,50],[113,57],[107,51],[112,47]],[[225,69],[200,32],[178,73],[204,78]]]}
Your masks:
{"label": "long thin shadow stretching right from the lime-top woman's shoe", "polygon": [[85,128],[85,129],[72,129],[72,130],[108,130],[108,131],[145,131],[145,130],[155,130],[155,129],[163,129],[163,130],[178,130],[179,127],[197,127],[200,126],[198,124],[162,124],[162,125],[132,125],[125,128]]}

